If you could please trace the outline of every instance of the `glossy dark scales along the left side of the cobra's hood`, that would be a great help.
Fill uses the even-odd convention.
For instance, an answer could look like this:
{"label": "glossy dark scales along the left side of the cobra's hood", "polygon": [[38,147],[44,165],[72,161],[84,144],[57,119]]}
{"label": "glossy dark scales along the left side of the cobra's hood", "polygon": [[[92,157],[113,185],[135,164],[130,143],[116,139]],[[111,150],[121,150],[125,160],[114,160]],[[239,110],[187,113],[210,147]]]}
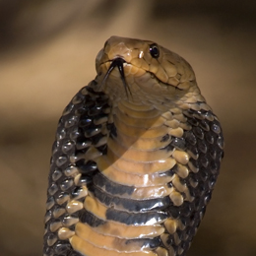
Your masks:
{"label": "glossy dark scales along the left side of the cobra's hood", "polygon": [[[92,85],[94,82],[92,82]],[[90,86],[87,87],[90,91]],[[93,175],[96,173],[96,162],[94,160],[76,160],[76,156],[84,155],[92,144],[96,144],[104,135],[101,134],[102,125],[96,125],[94,120],[102,119],[107,114],[104,109],[108,107],[106,96],[95,93],[91,90],[91,94],[84,95],[83,89],[74,96],[72,101],[63,111],[63,115],[59,120],[56,141],[52,147],[52,158],[49,173],[49,188],[47,193],[47,212],[45,215],[45,234],[43,253],[46,255],[72,255],[80,256],[81,254],[72,251],[71,245],[66,241],[58,241],[57,231],[51,231],[50,225],[58,222],[64,222],[66,217],[67,203],[79,196],[81,185],[90,184],[93,181]],[[92,134],[95,134],[91,136]],[[101,146],[98,151],[105,152]],[[71,162],[71,156],[75,162]],[[78,185],[74,187],[74,167],[79,169],[82,174]],[[74,172],[74,173],[72,173]],[[67,176],[67,175],[70,175]],[[80,198],[83,201],[83,198]],[[62,209],[62,211],[57,211]],[[53,213],[59,213],[58,218],[53,216]],[[76,214],[71,216],[75,217]],[[55,214],[56,216],[56,214]],[[77,215],[78,216],[78,215]],[[85,219],[85,214],[79,215],[82,220]],[[88,222],[94,223],[92,218],[87,217]],[[69,226],[72,230],[75,226]],[[52,241],[53,244],[50,244]]]}

